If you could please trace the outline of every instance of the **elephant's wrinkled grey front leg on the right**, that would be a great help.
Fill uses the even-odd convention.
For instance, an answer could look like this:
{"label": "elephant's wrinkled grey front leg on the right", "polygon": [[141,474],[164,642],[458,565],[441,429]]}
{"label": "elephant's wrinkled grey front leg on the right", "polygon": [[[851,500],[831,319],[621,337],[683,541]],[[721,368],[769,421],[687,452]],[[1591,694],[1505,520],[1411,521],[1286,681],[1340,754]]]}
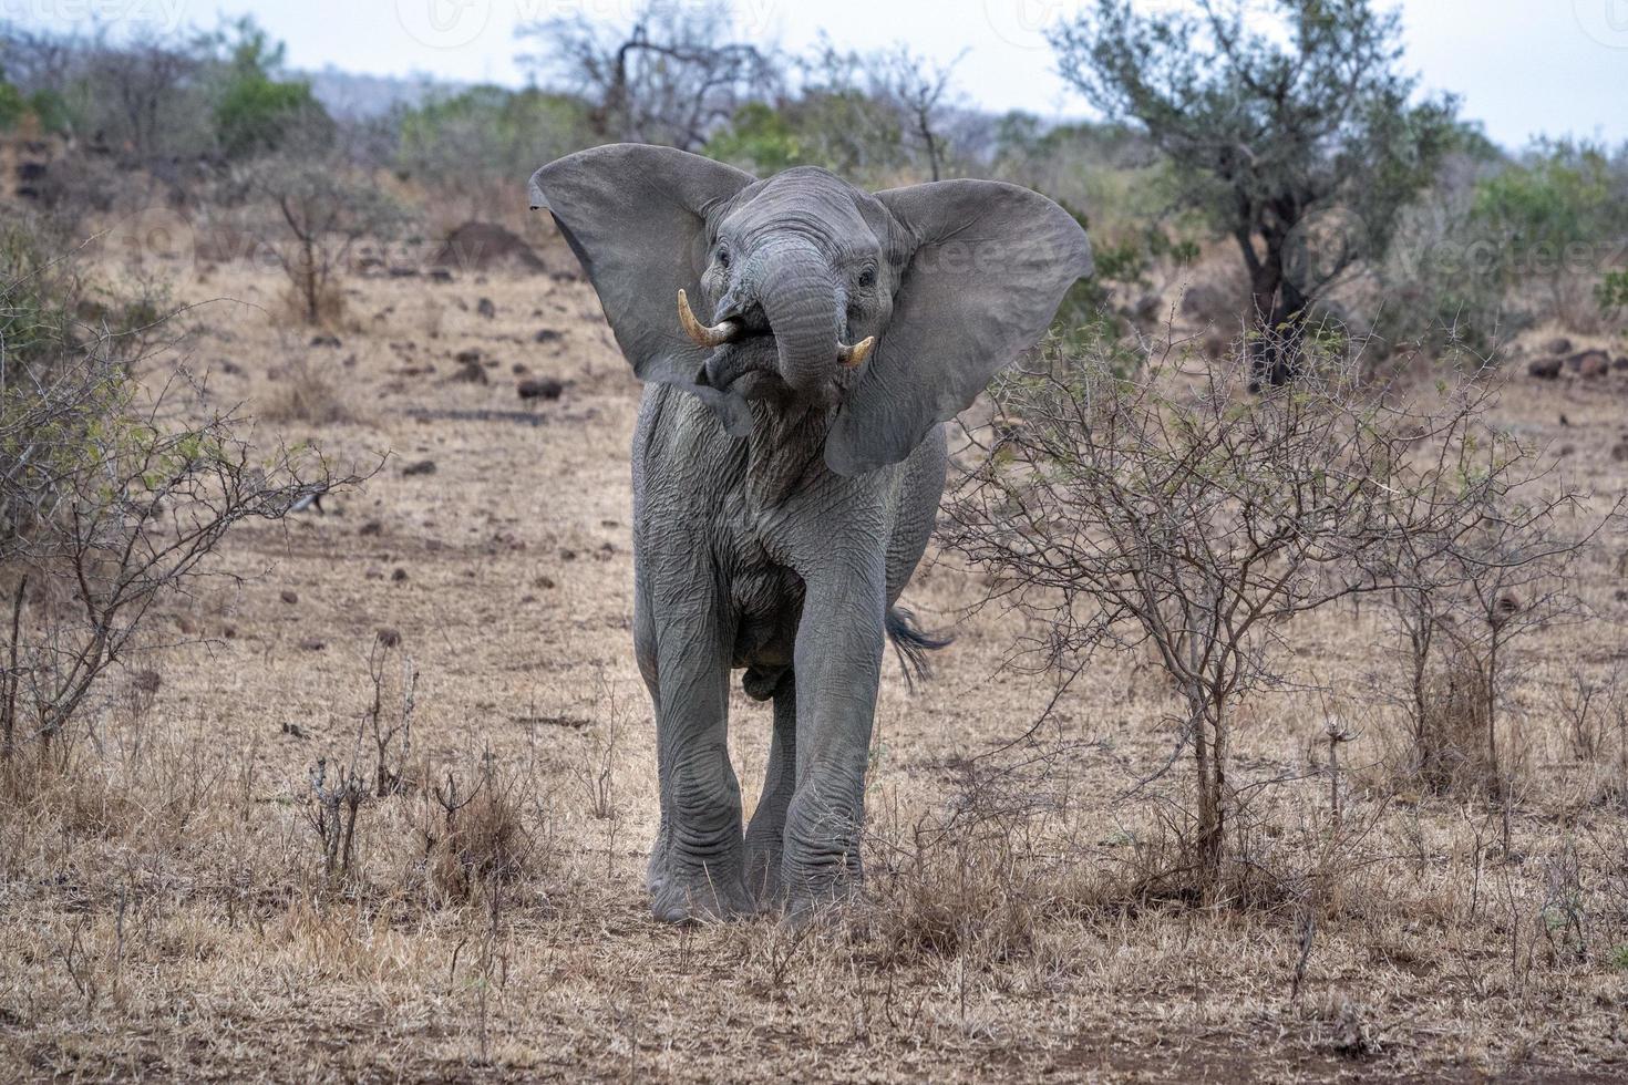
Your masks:
{"label": "elephant's wrinkled grey front leg on the right", "polygon": [[798,786],[781,857],[794,911],[847,891],[861,877],[864,768],[887,605],[881,555],[804,582],[794,662]]}

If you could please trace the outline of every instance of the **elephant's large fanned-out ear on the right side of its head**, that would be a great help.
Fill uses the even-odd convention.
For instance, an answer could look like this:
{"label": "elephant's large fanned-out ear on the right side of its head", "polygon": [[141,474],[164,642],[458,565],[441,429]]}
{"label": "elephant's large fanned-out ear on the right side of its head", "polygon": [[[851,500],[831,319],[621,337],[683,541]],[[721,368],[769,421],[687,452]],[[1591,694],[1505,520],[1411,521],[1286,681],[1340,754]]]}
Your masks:
{"label": "elephant's large fanned-out ear on the right side of its head", "polygon": [[892,320],[825,441],[825,462],[842,475],[897,464],[965,410],[1045,333],[1092,267],[1079,223],[1029,189],[939,181],[876,198],[904,228],[910,257]]}

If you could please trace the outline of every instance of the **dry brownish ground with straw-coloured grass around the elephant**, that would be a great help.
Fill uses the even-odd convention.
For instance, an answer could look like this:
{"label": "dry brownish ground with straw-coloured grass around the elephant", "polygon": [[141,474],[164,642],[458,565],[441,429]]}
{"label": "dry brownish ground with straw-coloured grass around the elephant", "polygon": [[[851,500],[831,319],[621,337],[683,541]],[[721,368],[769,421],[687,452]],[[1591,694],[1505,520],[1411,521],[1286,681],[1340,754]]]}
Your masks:
{"label": "dry brownish ground with straw-coloured grass around the elephant", "polygon": [[[1171,753],[1167,690],[1146,660],[1105,654],[1021,742],[1055,680],[1003,667],[1021,623],[964,615],[977,577],[934,553],[905,600],[957,641],[913,691],[886,670],[871,903],[804,929],[666,927],[643,888],[656,781],[630,644],[640,390],[593,293],[524,272],[352,277],[337,345],[313,345],[280,280],[176,273],[182,301],[207,303],[184,317],[186,361],[220,405],[260,416],[267,441],[386,459],[321,512],[231,535],[215,566],[231,576],[161,617],[179,646],[114,678],[50,794],[0,812],[0,1077],[1628,1074],[1617,747],[1579,756],[1556,708],[1573,672],[1604,680],[1628,659],[1615,535],[1586,564],[1597,615],[1512,667],[1508,848],[1493,805],[1392,786],[1394,634],[1346,607],[1298,634],[1332,698],[1241,716],[1236,776],[1288,778],[1255,792],[1260,898],[1133,893],[1188,787],[1185,763],[1133,787]],[[1509,421],[1553,441],[1574,485],[1620,488],[1628,374],[1511,369]],[[526,377],[563,392],[523,400]],[[353,869],[326,875],[309,774],[371,773],[370,657],[397,639],[383,701],[399,711],[410,659],[409,787],[360,807]],[[1366,826],[1332,861],[1330,712],[1359,735],[1343,817]],[[737,693],[747,810],[767,729]],[[448,843],[449,781],[477,794],[466,823],[506,826],[514,877],[479,877],[479,848]]]}

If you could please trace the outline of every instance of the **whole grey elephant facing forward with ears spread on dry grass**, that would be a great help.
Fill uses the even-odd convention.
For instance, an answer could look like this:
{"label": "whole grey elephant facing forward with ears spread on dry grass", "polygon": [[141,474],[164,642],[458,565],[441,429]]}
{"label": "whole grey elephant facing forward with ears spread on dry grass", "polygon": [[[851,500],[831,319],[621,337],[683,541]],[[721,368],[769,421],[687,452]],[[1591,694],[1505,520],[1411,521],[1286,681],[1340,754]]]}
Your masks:
{"label": "whole grey elephant facing forward with ears spread on dry grass", "polygon": [[[537,169],[645,382],[633,438],[633,643],[656,726],[658,919],[806,916],[861,883],[886,639],[941,641],[899,595],[946,485],[943,423],[1091,275],[1081,224],[993,181],[868,194],[610,145]],[[697,316],[700,306],[708,319]],[[773,701],[751,823],[729,680]]]}

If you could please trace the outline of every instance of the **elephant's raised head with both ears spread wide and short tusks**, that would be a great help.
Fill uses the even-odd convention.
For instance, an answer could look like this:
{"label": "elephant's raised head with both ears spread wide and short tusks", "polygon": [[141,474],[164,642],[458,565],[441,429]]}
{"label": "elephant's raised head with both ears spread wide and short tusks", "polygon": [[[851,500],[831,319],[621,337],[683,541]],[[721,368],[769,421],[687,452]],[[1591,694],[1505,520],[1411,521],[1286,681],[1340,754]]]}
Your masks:
{"label": "elephant's raised head with both ears spread wide and short tusks", "polygon": [[544,166],[531,194],[641,379],[692,386],[736,433],[744,399],[832,405],[825,462],[845,475],[907,457],[1091,273],[1073,216],[993,181],[869,195],[617,145]]}

